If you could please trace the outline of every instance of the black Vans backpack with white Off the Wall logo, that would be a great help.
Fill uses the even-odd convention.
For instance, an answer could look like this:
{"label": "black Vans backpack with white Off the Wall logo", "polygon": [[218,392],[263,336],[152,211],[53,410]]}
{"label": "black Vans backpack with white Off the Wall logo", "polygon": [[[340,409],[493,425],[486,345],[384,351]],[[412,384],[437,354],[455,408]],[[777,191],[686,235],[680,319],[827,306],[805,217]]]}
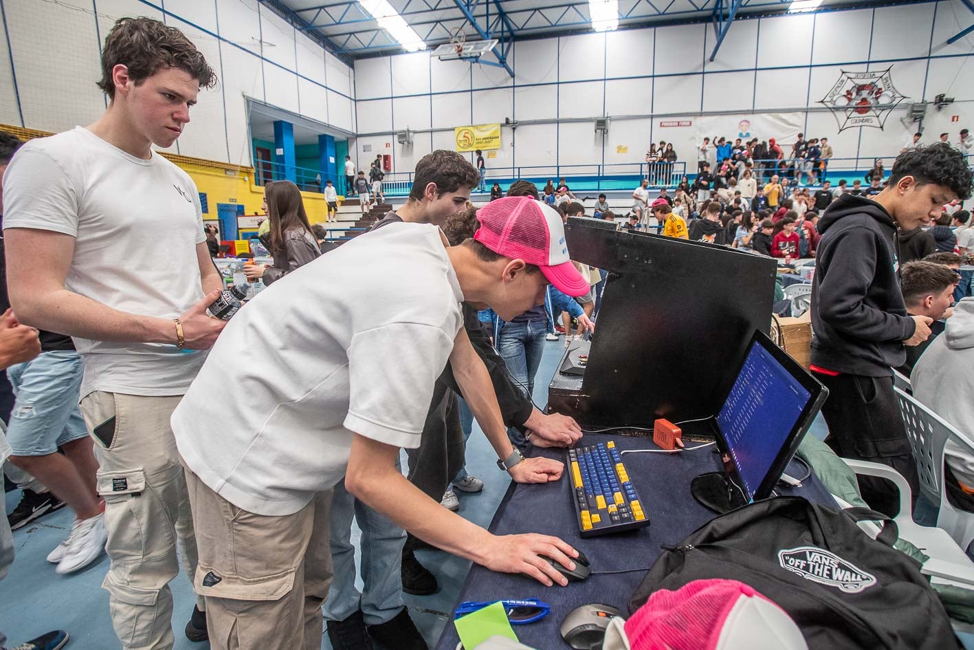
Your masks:
{"label": "black Vans backpack with white Off the Wall logo", "polygon": [[[884,520],[877,539],[855,524]],[[958,648],[951,621],[916,559],[891,547],[896,524],[866,508],[833,510],[776,497],[718,516],[663,547],[629,600],[694,580],[737,580],[792,617],[811,650]]]}

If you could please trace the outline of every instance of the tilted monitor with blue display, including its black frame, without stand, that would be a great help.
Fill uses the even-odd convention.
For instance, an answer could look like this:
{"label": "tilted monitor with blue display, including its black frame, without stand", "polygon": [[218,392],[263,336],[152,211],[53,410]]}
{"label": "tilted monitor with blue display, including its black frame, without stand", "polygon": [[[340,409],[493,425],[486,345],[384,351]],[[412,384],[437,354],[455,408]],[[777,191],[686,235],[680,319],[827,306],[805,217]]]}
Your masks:
{"label": "tilted monitor with blue display, including its black frame, without stand", "polygon": [[[743,483],[738,487],[749,502],[767,497],[780,478],[824,401],[822,391],[821,384],[768,336],[755,335],[717,416],[724,448],[736,470],[733,478]],[[812,401],[817,402],[813,409]],[[768,485],[773,471],[776,475]],[[759,495],[763,491],[768,494]]]}

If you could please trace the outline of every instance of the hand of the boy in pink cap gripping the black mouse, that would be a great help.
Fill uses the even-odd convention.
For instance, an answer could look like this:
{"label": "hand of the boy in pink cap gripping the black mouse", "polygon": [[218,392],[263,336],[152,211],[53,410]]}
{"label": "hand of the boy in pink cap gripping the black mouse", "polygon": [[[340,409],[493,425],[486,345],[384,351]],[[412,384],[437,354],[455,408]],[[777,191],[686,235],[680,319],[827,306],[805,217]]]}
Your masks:
{"label": "hand of the boy in pink cap gripping the black mouse", "polygon": [[[518,463],[520,465],[521,463]],[[483,564],[491,571],[523,573],[546,587],[557,583],[564,587],[568,578],[551,566],[548,557],[569,570],[576,568],[579,552],[557,537],[527,533],[524,535],[491,536],[484,551]]]}

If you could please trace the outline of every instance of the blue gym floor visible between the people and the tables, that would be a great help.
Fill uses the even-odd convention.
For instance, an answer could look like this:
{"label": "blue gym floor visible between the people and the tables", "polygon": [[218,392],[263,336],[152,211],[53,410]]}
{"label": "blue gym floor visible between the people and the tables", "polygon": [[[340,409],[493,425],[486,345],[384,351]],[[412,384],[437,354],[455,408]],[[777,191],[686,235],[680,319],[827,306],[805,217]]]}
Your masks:
{"label": "blue gym floor visible between the people and the tables", "polygon": [[[563,340],[544,345],[542,364],[535,380],[534,397],[538,404],[544,405],[546,401],[547,385],[563,351]],[[819,439],[827,434],[821,416],[813,423],[811,434]],[[494,452],[476,425],[468,442],[467,468],[470,474],[484,480],[484,490],[479,494],[458,493],[460,515],[486,526],[504,496],[509,479],[497,469]],[[6,496],[9,513],[19,501],[19,492],[10,492]],[[925,515],[923,519],[932,517],[936,520],[935,511]],[[932,525],[927,520],[923,523]],[[0,585],[0,630],[7,634],[12,645],[45,631],[62,629],[71,635],[67,650],[117,650],[121,646],[108,616],[108,593],[101,589],[101,581],[108,569],[107,557],[102,555],[98,561],[70,576],[56,575],[55,565],[45,559],[67,536],[70,526],[71,513],[64,508],[14,533],[17,559],[10,575]],[[355,528],[352,539],[356,548],[358,536]],[[432,646],[452,619],[451,612],[467,576],[469,562],[434,551],[419,551],[417,556],[435,574],[440,590],[430,596],[407,594],[406,602],[417,627]],[[207,650],[208,643],[192,643],[182,633],[194,604],[189,581],[180,576],[170,587],[174,602],[172,623],[176,632],[174,649]],[[358,587],[361,588],[360,580]],[[974,650],[974,635],[961,636],[965,646]],[[321,647],[331,650],[327,636],[322,639]]]}

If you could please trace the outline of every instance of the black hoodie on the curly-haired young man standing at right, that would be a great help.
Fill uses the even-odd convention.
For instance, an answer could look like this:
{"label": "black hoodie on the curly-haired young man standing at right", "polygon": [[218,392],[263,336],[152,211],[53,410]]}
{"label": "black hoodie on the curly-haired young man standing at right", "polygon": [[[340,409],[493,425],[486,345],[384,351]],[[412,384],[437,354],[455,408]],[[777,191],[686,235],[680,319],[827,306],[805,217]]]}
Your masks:
{"label": "black hoodie on the curly-haired young man standing at right", "polygon": [[843,194],[818,222],[811,287],[811,363],[888,377],[917,325],[899,284],[896,223],[875,201]]}

